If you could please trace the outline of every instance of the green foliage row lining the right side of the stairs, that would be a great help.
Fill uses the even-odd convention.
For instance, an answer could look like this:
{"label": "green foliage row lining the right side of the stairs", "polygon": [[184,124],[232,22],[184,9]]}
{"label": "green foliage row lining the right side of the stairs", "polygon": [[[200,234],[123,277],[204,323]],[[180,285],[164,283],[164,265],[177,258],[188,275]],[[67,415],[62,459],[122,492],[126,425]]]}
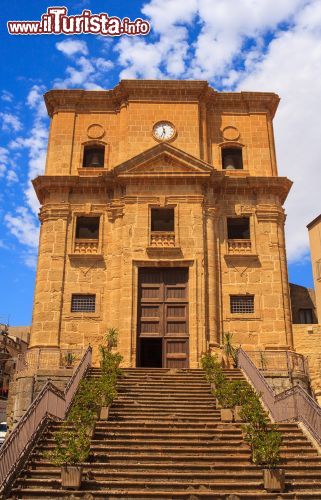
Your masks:
{"label": "green foliage row lining the right side of the stairs", "polygon": [[[225,337],[229,334],[225,334]],[[227,344],[231,338],[227,338]],[[227,348],[225,354],[229,351]],[[245,381],[230,381],[225,377],[217,356],[206,353],[201,357],[201,366],[208,382],[214,383],[213,391],[223,408],[241,406],[240,416],[247,422],[243,425],[245,440],[252,451],[255,464],[275,467],[280,461],[282,436],[275,425],[270,425],[269,416],[263,410],[257,393]]]}

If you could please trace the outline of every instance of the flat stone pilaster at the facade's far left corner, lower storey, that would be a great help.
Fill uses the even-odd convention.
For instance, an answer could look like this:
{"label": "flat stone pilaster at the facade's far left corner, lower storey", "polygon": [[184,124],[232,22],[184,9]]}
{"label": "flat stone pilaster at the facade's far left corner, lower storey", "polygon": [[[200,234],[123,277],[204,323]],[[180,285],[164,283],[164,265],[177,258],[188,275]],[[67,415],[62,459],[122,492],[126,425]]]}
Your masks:
{"label": "flat stone pilaster at the facade's far left corner, lower storey", "polygon": [[42,208],[40,220],[30,348],[59,348],[69,208]]}

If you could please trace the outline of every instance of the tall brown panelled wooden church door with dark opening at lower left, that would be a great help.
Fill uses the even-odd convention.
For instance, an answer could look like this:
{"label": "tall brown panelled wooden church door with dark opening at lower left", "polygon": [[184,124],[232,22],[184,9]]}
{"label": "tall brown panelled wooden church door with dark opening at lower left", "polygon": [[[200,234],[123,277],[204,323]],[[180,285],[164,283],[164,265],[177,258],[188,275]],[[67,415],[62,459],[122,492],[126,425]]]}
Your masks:
{"label": "tall brown panelled wooden church door with dark opening at lower left", "polygon": [[188,269],[141,268],[137,365],[188,368]]}

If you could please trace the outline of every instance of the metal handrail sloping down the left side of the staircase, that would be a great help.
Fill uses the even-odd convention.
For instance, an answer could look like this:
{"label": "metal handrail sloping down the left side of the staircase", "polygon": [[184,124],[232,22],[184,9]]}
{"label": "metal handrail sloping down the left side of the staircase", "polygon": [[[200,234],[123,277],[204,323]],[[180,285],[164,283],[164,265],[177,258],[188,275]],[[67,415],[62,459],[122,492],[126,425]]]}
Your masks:
{"label": "metal handrail sloping down the left side of the staircase", "polygon": [[3,443],[0,448],[0,491],[19,469],[47,419],[65,417],[79,382],[91,365],[91,354],[92,349],[88,347],[64,391],[51,382],[46,383]]}

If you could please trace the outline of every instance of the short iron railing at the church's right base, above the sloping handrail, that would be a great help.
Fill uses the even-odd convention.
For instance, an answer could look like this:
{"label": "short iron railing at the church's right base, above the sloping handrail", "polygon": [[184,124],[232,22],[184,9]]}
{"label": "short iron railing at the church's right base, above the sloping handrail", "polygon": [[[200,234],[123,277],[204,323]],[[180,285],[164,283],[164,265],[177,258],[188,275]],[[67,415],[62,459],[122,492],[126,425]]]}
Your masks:
{"label": "short iron railing at the church's right base, above the sloping handrail", "polygon": [[302,354],[292,351],[247,351],[256,368],[264,372],[282,372],[308,376],[308,363]]}

